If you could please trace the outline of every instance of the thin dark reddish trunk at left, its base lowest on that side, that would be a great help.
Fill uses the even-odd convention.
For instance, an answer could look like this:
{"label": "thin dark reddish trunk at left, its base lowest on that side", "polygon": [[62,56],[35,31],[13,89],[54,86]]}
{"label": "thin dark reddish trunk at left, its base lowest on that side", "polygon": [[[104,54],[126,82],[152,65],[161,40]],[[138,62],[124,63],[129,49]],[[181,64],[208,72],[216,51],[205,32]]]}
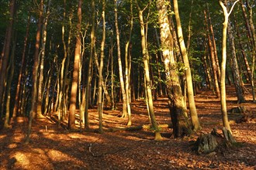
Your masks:
{"label": "thin dark reddish trunk at left, its base lowest on that side", "polygon": [[37,32],[36,32],[36,49],[35,54],[33,58],[33,86],[32,86],[32,94],[31,94],[31,110],[29,112],[29,128],[26,135],[26,144],[29,143],[29,138],[31,134],[32,129],[32,121],[33,117],[36,115],[36,98],[37,98],[37,73],[38,73],[38,66],[39,66],[39,53],[40,53],[40,37],[41,37],[41,30],[43,25],[43,0],[40,1],[40,13],[39,13],[39,19],[37,23]]}

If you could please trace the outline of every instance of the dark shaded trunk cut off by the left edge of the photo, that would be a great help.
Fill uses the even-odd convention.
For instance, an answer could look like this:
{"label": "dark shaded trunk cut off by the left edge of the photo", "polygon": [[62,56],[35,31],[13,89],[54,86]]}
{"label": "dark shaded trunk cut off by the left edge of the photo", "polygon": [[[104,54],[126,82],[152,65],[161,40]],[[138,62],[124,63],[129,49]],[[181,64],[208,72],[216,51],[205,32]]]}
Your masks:
{"label": "dark shaded trunk cut off by the left edge of the photo", "polygon": [[[10,45],[12,41],[12,27],[13,27],[13,21],[14,21],[14,14],[16,10],[16,0],[10,0],[9,3],[10,8],[10,15],[9,15],[9,26],[7,27],[6,37],[5,37],[5,45],[2,56],[2,62],[1,62],[1,70],[0,70],[0,103],[2,104],[2,97],[4,92],[4,83],[5,83],[5,77],[6,77],[6,69],[9,62],[9,53],[10,53]],[[1,115],[1,113],[0,113]]]}

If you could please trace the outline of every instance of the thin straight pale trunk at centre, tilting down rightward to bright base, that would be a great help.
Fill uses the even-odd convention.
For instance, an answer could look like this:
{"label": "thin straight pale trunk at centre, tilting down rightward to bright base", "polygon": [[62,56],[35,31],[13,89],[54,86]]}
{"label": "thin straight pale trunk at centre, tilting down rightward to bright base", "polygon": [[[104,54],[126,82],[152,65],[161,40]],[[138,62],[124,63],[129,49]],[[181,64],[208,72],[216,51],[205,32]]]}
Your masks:
{"label": "thin straight pale trunk at centre, tilting down rightward to bright base", "polygon": [[117,0],[115,2],[115,26],[116,26],[116,46],[117,46],[117,57],[118,57],[118,67],[119,67],[119,80],[122,91],[123,99],[123,114],[122,117],[127,117],[127,98],[126,98],[126,89],[124,87],[123,81],[123,66],[121,59],[121,49],[120,49],[120,38],[119,38],[119,26],[118,26],[118,15],[117,15]]}

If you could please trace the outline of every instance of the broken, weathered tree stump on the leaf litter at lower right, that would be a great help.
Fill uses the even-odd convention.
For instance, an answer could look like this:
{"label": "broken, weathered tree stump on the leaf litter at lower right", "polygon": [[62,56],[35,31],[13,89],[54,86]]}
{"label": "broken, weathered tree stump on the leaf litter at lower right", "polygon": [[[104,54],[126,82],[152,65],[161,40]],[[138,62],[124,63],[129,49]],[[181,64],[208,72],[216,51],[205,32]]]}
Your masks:
{"label": "broken, weathered tree stump on the leaf litter at lower right", "polygon": [[219,134],[216,131],[216,128],[213,128],[213,131],[209,134],[201,134],[199,138],[195,141],[193,146],[193,150],[198,154],[209,154],[213,151],[216,151],[217,148],[222,146],[231,146],[236,143],[236,140],[227,130],[227,128],[223,128],[223,135]]}

